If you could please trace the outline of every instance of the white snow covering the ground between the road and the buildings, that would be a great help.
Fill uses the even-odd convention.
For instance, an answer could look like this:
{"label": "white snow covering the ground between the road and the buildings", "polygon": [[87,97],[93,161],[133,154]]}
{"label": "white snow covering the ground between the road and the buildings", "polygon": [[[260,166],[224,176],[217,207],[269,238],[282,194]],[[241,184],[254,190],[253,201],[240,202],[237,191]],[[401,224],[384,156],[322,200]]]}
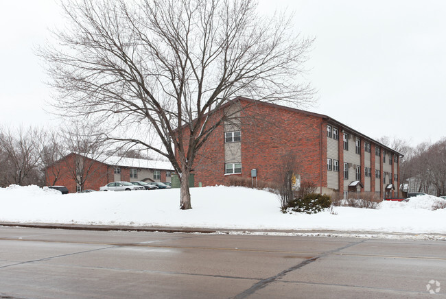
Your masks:
{"label": "white snow covering the ground between the road and the buildings", "polygon": [[446,239],[446,208],[430,209],[436,200],[438,198],[425,195],[409,202],[382,202],[375,210],[336,206],[332,213],[283,214],[277,195],[220,186],[191,189],[193,208],[180,211],[179,189],[61,195],[51,189],[12,185],[0,188],[0,223],[322,230],[325,232],[317,232],[317,235],[363,232],[377,236],[436,235],[436,239]]}

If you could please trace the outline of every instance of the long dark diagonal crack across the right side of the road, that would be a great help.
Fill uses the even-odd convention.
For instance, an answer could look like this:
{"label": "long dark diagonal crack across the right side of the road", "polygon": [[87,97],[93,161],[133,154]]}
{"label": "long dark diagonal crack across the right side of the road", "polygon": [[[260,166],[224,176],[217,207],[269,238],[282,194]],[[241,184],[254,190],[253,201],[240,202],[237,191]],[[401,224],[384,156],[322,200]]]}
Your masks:
{"label": "long dark diagonal crack across the right side of the road", "polygon": [[294,270],[298,270],[301,267],[304,267],[305,265],[308,265],[309,263],[313,263],[314,261],[316,261],[317,259],[320,259],[323,256],[327,256],[329,254],[333,254],[336,252],[339,252],[340,250],[344,250],[346,248],[352,247],[352,246],[356,246],[360,243],[364,243],[365,241],[367,241],[366,239],[362,240],[362,241],[358,241],[358,242],[354,242],[354,243],[349,243],[346,246],[342,246],[340,248],[336,248],[333,250],[329,250],[327,252],[323,252],[322,254],[318,255],[318,256],[314,256],[312,259],[306,259],[305,261],[302,261],[301,263],[298,263],[297,265],[294,265],[286,270],[283,270],[282,272],[280,272],[279,274],[276,274],[274,276],[270,276],[268,278],[262,279],[259,282],[255,283],[252,287],[250,287],[249,289],[246,289],[246,291],[243,291],[242,293],[238,294],[237,296],[233,297],[233,299],[242,299],[242,298],[247,298],[248,296],[254,294],[256,291],[258,291],[259,289],[263,289],[263,287],[266,287],[268,284],[276,281],[277,279],[285,276],[286,274],[294,271]]}

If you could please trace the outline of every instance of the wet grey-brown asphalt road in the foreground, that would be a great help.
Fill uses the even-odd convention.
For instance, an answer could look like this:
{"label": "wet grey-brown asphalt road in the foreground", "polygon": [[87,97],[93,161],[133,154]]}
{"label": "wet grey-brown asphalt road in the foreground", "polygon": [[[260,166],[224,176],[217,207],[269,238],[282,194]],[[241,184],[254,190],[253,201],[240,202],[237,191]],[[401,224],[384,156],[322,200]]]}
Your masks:
{"label": "wet grey-brown asphalt road in the foreground", "polygon": [[0,298],[423,297],[445,241],[0,227]]}

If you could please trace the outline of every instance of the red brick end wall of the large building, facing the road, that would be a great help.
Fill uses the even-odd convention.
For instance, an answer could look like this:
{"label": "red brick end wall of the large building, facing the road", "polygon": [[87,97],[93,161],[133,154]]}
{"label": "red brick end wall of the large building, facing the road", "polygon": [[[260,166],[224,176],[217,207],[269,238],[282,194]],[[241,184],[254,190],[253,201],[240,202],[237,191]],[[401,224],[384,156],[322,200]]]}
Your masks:
{"label": "red brick end wall of the large building, facing the road", "polygon": [[234,176],[250,178],[253,168],[258,180],[277,181],[284,157],[292,153],[301,181],[327,187],[327,133],[322,118],[279,106],[242,104],[242,174],[224,175],[224,126],[220,126],[198,154],[193,167],[196,186],[198,182],[227,185]]}

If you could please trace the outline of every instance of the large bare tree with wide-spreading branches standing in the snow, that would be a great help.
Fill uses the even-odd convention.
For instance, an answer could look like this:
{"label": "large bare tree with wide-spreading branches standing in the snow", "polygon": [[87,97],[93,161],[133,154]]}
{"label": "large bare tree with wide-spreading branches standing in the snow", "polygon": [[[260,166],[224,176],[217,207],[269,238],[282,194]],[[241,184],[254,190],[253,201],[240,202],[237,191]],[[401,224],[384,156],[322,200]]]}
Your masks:
{"label": "large bare tree with wide-spreading branches standing in the snow", "polygon": [[58,110],[145,132],[108,138],[165,156],[180,176],[182,209],[191,208],[196,153],[231,116],[222,105],[238,95],[312,101],[299,76],[313,39],[293,34],[290,16],[259,16],[254,0],[72,0],[62,8],[71,27],[39,51]]}

